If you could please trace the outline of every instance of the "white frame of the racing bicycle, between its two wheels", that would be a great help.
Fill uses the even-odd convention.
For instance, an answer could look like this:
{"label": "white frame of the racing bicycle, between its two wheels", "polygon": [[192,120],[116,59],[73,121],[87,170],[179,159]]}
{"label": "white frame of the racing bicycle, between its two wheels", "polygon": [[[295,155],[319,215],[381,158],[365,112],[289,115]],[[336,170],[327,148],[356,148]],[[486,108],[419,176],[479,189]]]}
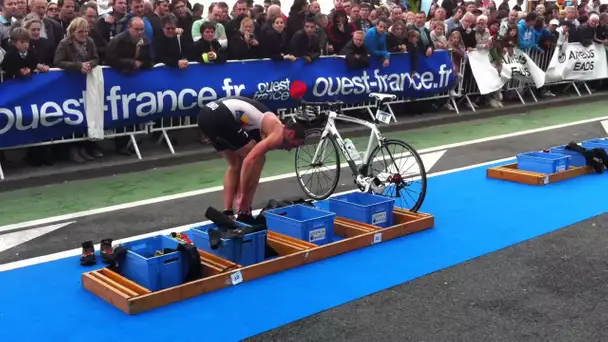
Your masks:
{"label": "white frame of the racing bicycle, between its two wheels", "polygon": [[[363,156],[363,158],[361,160],[362,165],[359,169],[357,168],[357,163],[350,157],[350,155],[348,154],[348,151],[346,151],[344,139],[342,139],[342,136],[340,135],[340,133],[338,132],[338,129],[336,128],[336,124],[335,124],[336,120],[343,121],[343,122],[350,122],[350,123],[354,123],[354,124],[357,124],[360,126],[365,126],[371,130],[370,137],[369,137],[369,140],[367,143],[367,150],[365,151],[365,155]],[[327,144],[327,140],[323,140],[327,136],[329,136],[329,139],[332,139],[338,145],[338,147],[342,151],[342,155],[344,155],[344,158],[346,158],[346,161],[348,162],[348,166],[352,170],[353,175],[357,175],[360,173],[363,173],[363,174],[366,173],[366,170],[364,168],[367,166],[369,158],[371,158],[372,151],[374,150],[374,148],[376,148],[376,146],[378,146],[380,144],[381,141],[384,140],[384,137],[380,133],[380,130],[378,130],[378,127],[376,127],[375,123],[357,119],[355,117],[344,115],[344,114],[338,114],[332,110],[332,111],[329,111],[327,123],[325,124],[325,129],[323,130],[323,134],[321,135],[321,142],[319,143],[319,145],[317,145],[317,149],[315,150],[315,154],[312,159],[313,163],[318,160],[317,157],[319,157],[320,151],[323,151],[323,153],[325,153],[325,146],[322,146],[322,145]],[[324,157],[325,157],[324,155],[321,155],[321,160],[323,160]],[[338,167],[340,167],[340,166],[338,166]]]}

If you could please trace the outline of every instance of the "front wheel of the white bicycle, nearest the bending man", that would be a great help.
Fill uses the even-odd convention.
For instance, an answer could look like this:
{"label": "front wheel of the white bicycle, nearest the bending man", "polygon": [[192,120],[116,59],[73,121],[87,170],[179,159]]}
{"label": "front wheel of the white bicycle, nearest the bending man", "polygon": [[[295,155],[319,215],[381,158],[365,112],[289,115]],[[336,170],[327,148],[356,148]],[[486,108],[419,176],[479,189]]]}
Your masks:
{"label": "front wheel of the white bicycle, nearest the bending man", "polygon": [[329,136],[321,139],[323,130],[306,132],[304,145],[296,149],[296,177],[304,193],[324,200],[334,193],[340,180],[338,146]]}

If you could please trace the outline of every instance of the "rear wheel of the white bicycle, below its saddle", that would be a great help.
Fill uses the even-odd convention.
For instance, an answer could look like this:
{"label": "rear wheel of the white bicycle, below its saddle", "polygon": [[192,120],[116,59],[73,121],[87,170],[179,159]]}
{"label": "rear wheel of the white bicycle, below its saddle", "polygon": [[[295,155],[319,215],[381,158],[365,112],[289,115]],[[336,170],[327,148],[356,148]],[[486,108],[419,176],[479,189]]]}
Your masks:
{"label": "rear wheel of the white bicycle, below its saddle", "polygon": [[422,158],[408,143],[387,140],[377,146],[367,163],[367,176],[382,183],[382,195],[395,199],[395,206],[418,211],[426,197],[426,170]]}

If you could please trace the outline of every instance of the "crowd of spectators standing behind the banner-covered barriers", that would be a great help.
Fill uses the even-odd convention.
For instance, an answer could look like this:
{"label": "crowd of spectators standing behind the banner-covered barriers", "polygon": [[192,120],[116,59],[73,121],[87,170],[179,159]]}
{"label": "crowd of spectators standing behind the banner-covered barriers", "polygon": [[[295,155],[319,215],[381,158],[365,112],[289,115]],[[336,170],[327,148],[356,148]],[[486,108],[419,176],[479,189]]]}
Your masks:
{"label": "crowd of spectators standing behind the banner-covered barriers", "polygon": [[[500,72],[497,61],[514,47],[545,53],[567,42],[608,43],[608,6],[598,0],[563,9],[563,2],[547,2],[529,13],[522,3],[510,8],[508,0],[435,0],[425,13],[409,11],[405,2],[335,0],[329,13],[321,13],[317,1],[295,0],[285,14],[280,0],[208,8],[187,0],[110,0],[109,11],[99,13],[95,2],[80,0],[0,0],[0,66],[5,78],[26,78],[49,68],[88,73],[101,64],[131,73],[158,63],[181,69],[188,62],[256,58],[313,63],[341,54],[349,67],[363,68],[370,58],[386,67],[390,53],[409,52],[416,70],[418,56],[448,49],[460,79],[472,49],[488,49]],[[548,88],[540,94],[554,96]],[[496,93],[486,102],[501,107],[501,99]],[[75,162],[101,156],[95,145],[70,147]],[[39,156],[33,161],[49,162]]]}

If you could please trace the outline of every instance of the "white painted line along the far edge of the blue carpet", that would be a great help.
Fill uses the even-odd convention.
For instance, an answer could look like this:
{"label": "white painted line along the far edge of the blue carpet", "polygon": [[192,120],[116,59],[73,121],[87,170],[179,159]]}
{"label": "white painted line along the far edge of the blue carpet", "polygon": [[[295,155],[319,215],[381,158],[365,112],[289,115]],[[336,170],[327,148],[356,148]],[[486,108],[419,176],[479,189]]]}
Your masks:
{"label": "white painted line along the far edge of the blue carpet", "polygon": [[[459,167],[459,168],[452,169],[452,170],[430,173],[429,175],[427,175],[427,178],[437,177],[437,176],[460,172],[460,171],[466,171],[466,170],[483,167],[483,166],[487,166],[487,165],[492,165],[492,164],[496,164],[496,163],[503,163],[503,162],[510,161],[510,160],[514,160],[514,158],[510,157],[510,158],[497,159],[497,160],[493,160],[493,161],[489,161],[489,162]],[[358,190],[353,189],[353,190],[343,191],[340,193],[335,193],[332,196],[338,196],[338,195],[347,194],[347,193],[351,193],[351,192],[355,192],[355,191],[358,191]],[[253,211],[253,214],[257,215],[259,212],[260,212],[260,210],[258,209],[258,210]],[[132,237],[125,238],[125,239],[115,240],[114,244],[116,245],[116,244],[135,241],[135,240],[139,240],[139,239],[145,239],[147,237],[152,237],[152,236],[156,236],[156,235],[170,234],[171,232],[180,232],[180,231],[188,230],[193,227],[201,226],[201,225],[208,224],[208,223],[210,223],[210,221],[197,222],[197,223],[187,224],[187,225],[180,226],[180,227],[169,228],[169,229],[159,230],[156,232],[132,236]],[[99,250],[99,245],[95,245],[95,250],[97,250],[97,251]],[[33,266],[33,265],[42,264],[42,263],[46,263],[46,262],[65,259],[65,258],[69,258],[69,257],[74,257],[77,255],[80,255],[80,253],[81,253],[80,248],[74,248],[71,250],[63,251],[63,252],[42,255],[42,256],[38,256],[35,258],[30,258],[30,259],[14,261],[14,262],[0,265],[0,272],[10,271],[10,270],[18,269],[18,268],[23,268],[23,267]],[[86,269],[83,268],[83,271],[84,270],[86,270]]]}

